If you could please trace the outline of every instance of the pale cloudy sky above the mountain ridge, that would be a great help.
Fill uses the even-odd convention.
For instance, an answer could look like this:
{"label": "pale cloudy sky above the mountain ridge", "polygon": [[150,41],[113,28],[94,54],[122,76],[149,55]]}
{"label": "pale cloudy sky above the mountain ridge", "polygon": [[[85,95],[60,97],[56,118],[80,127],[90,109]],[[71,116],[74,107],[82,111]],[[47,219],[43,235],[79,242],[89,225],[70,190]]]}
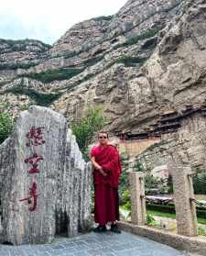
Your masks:
{"label": "pale cloudy sky above the mountain ridge", "polygon": [[0,39],[53,44],[74,24],[114,15],[127,0],[0,0]]}

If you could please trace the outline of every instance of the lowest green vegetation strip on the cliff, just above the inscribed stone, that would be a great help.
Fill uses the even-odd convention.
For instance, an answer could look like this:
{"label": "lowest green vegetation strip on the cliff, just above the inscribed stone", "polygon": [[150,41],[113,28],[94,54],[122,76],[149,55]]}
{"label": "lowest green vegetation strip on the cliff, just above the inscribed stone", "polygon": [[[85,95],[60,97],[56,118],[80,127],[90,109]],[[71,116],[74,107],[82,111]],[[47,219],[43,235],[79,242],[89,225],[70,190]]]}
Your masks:
{"label": "lowest green vegetation strip on the cliff, just above the inscribed stone", "polygon": [[41,94],[34,89],[29,89],[25,87],[13,87],[5,90],[5,93],[12,93],[14,95],[27,95],[29,98],[35,100],[38,106],[49,106],[53,101],[57,100],[61,93],[58,94]]}

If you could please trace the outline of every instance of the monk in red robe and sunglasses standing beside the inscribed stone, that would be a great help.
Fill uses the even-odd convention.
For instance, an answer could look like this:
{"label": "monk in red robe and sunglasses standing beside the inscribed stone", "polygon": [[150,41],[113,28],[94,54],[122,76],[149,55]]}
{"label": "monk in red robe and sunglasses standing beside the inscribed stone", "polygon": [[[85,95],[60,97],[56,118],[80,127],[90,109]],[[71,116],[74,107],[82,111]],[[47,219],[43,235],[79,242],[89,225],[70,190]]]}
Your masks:
{"label": "monk in red robe and sunglasses standing beside the inscribed stone", "polygon": [[112,222],[111,231],[120,233],[118,184],[121,173],[120,157],[116,147],[108,144],[108,133],[99,133],[99,145],[91,150],[94,184],[94,218],[99,224],[94,232],[106,231]]}

